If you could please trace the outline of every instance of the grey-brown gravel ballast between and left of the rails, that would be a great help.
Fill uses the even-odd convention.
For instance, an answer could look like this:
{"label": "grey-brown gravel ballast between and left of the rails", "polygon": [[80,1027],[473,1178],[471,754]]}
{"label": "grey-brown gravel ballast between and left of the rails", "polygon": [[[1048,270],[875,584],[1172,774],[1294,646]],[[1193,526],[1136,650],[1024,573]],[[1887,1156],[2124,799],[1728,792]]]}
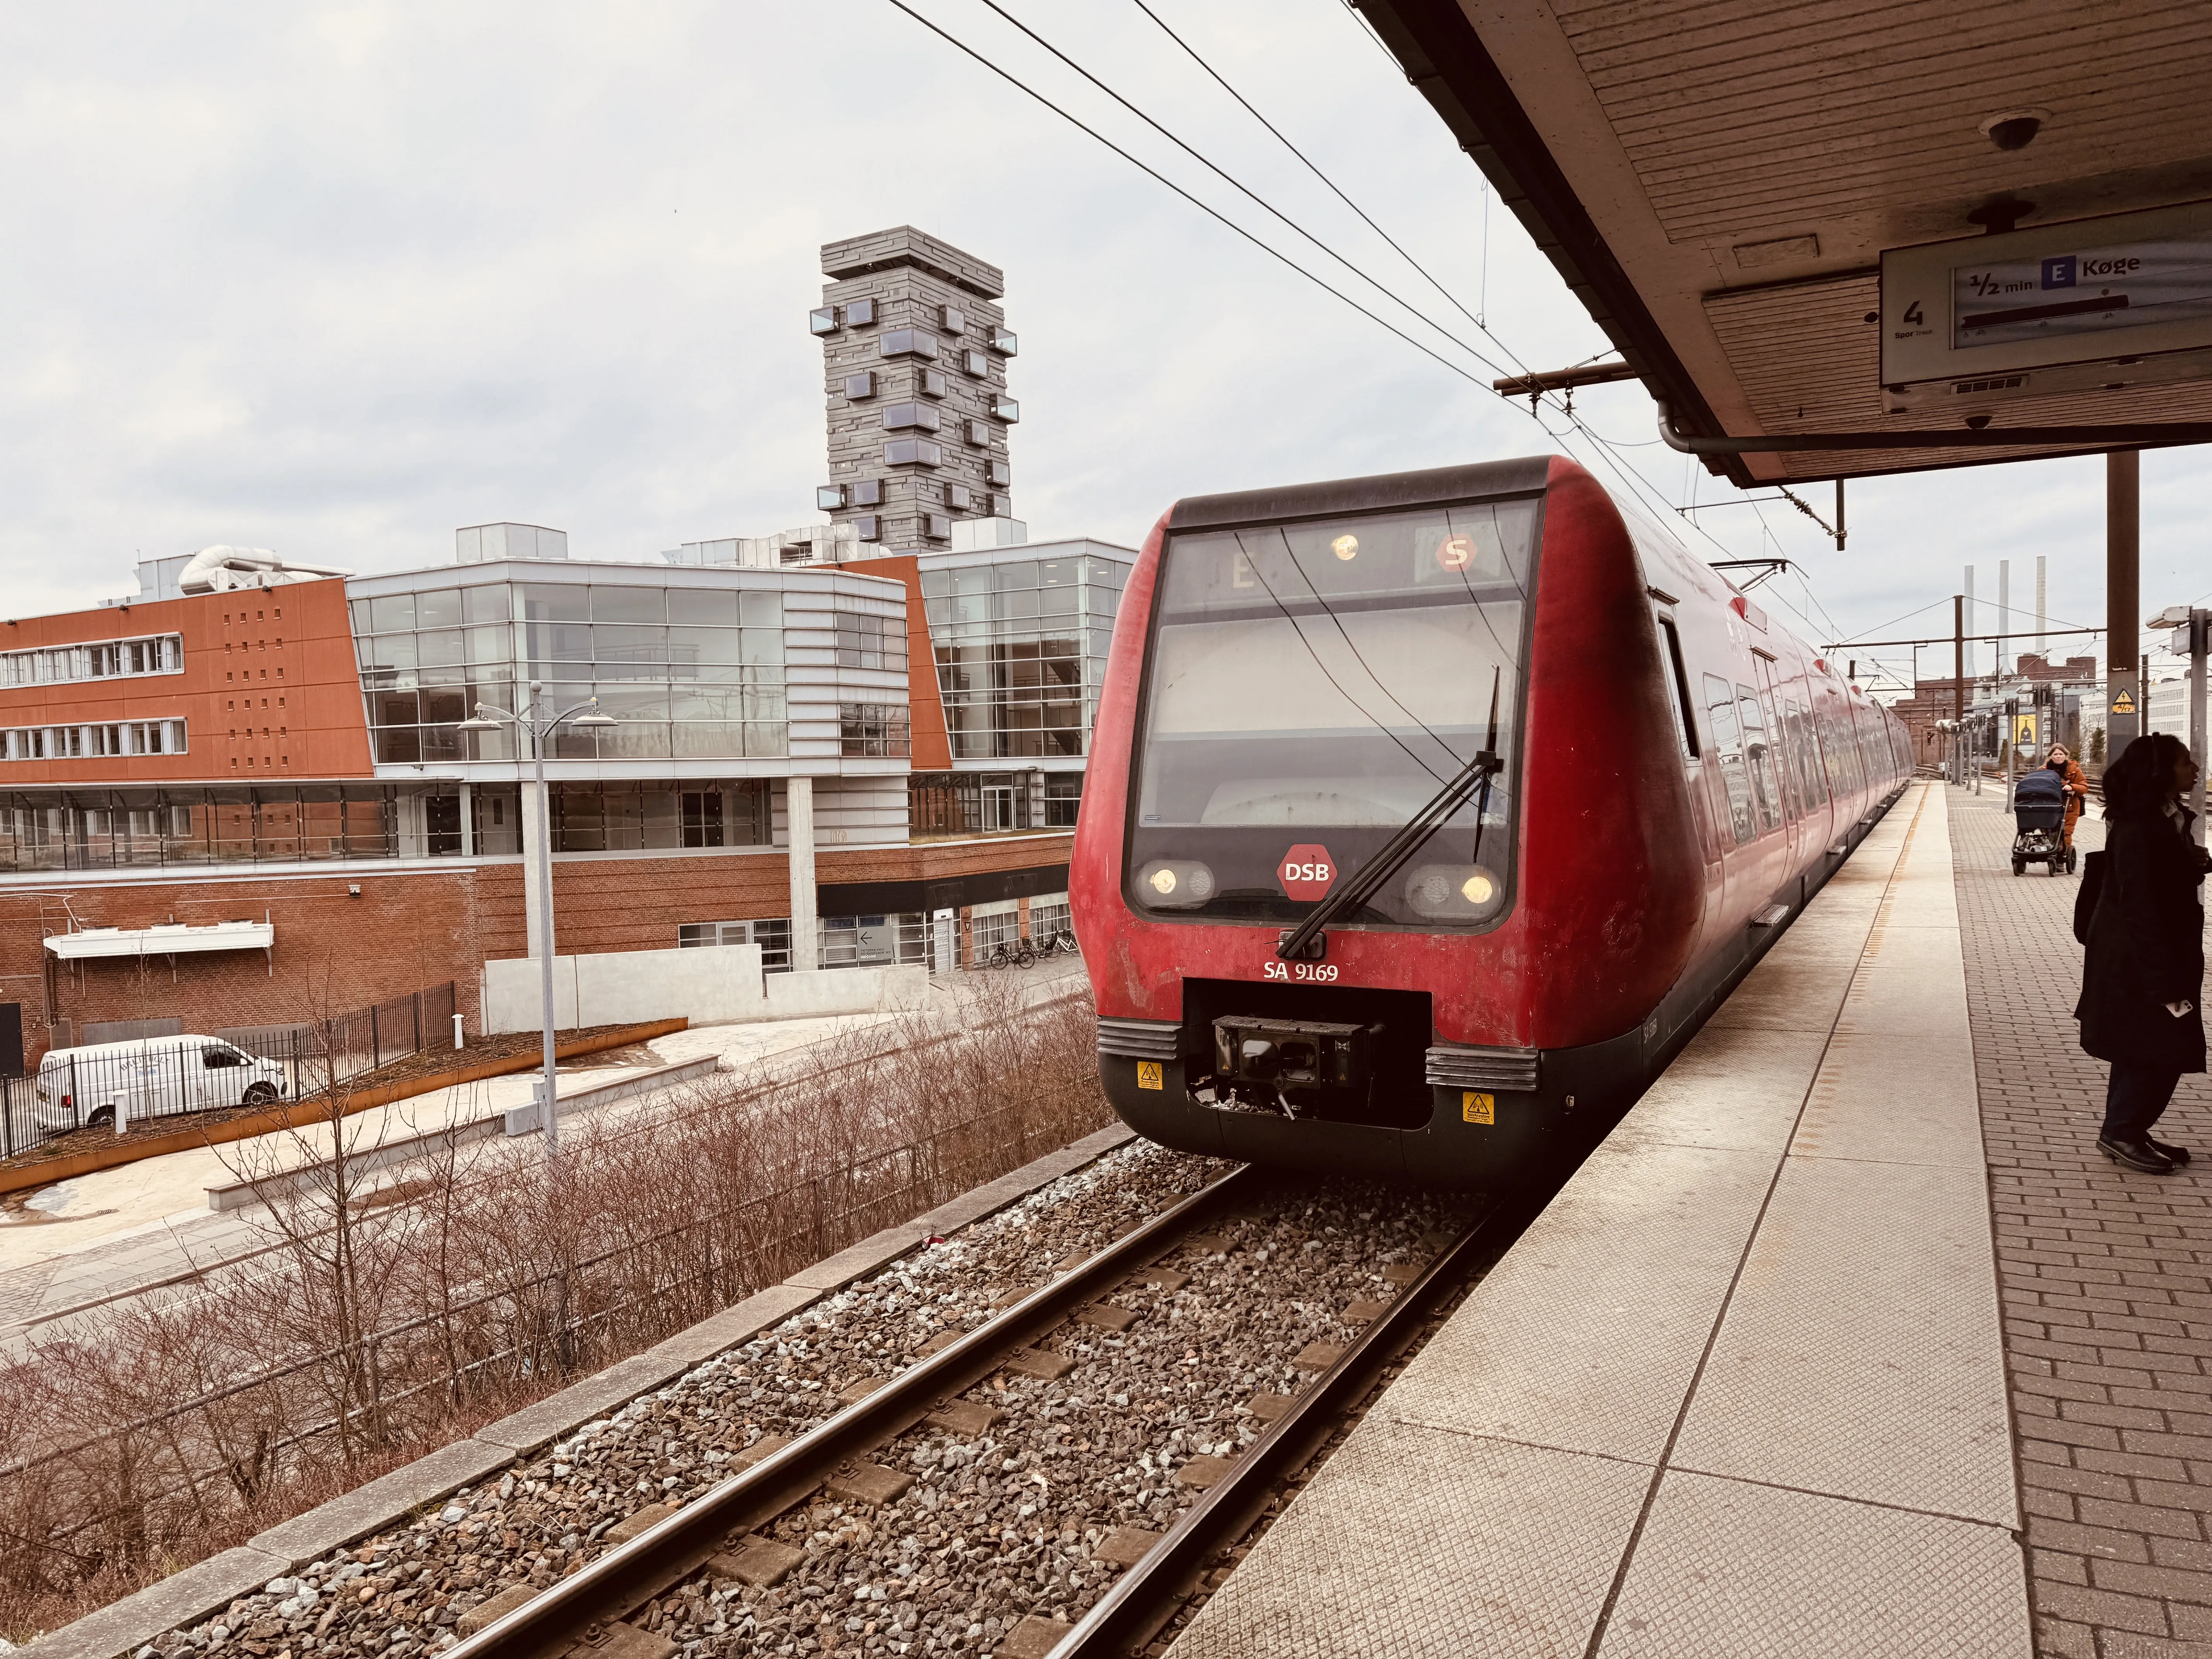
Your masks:
{"label": "grey-brown gravel ballast between and left of the rails", "polygon": [[[1110,1152],[139,1659],[409,1659],[451,1646],[465,1619],[476,1628],[471,1610],[489,1617],[580,1568],[611,1533],[619,1542],[657,1506],[701,1495],[743,1469],[748,1449],[818,1427],[856,1387],[1228,1168],[1148,1144]],[[920,1655],[995,1652],[1022,1619],[1079,1619],[1115,1562],[1223,1467],[1210,1460],[1256,1440],[1254,1402],[1294,1394],[1352,1340],[1358,1305],[1387,1301],[1473,1208],[1378,1183],[1270,1181],[1042,1338],[1057,1360],[1031,1369],[1057,1376],[993,1374],[947,1413],[958,1427],[907,1431],[874,1453],[874,1473],[830,1482],[630,1624],[686,1655]],[[1037,1635],[1031,1626],[1024,1641]]]}

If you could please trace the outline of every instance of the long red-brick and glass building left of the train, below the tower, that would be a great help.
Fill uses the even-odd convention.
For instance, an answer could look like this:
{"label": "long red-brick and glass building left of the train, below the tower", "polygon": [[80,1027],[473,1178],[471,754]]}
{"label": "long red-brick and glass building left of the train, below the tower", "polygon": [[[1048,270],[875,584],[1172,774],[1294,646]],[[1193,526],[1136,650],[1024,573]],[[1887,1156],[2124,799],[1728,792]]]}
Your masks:
{"label": "long red-brick and glass building left of the train, below the tower", "polygon": [[[462,535],[493,529],[529,526]],[[551,708],[597,697],[615,719],[549,745],[560,953],[759,942],[772,969],[951,969],[1064,927],[1084,675],[984,624],[1013,670],[1068,679],[1079,730],[1051,757],[1073,787],[1046,783],[1022,732],[1068,714],[1037,692],[1026,723],[1009,672],[982,708],[1011,752],[978,757],[993,728],[922,599],[922,564],[964,555],[531,553],[161,597],[170,560],[142,573],[142,599],[0,628],[0,1004],[20,1004],[31,1064],[88,1024],[290,1024],[445,980],[478,1029],[482,964],[533,953],[533,807],[526,745],[460,721],[518,708],[533,679]],[[1053,573],[1097,575],[1110,619],[1126,562],[995,549],[984,586],[993,564],[1026,564],[1031,597]],[[814,894],[796,933],[794,891]],[[268,922],[272,942],[195,951],[157,931],[217,920]],[[64,960],[53,940],[86,929],[124,929],[139,953]]]}

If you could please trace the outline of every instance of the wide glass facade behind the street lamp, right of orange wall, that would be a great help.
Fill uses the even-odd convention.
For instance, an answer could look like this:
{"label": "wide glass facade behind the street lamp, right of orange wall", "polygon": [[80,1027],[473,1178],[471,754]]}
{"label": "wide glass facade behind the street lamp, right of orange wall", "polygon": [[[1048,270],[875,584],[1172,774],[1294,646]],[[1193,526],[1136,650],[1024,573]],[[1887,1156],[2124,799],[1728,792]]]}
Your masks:
{"label": "wide glass facade behind the street lamp, right of orange wall", "polygon": [[520,712],[591,697],[615,728],[562,728],[551,759],[757,759],[787,752],[783,595],[491,582],[354,599],[380,763],[511,761],[515,734],[460,732],[482,701]]}

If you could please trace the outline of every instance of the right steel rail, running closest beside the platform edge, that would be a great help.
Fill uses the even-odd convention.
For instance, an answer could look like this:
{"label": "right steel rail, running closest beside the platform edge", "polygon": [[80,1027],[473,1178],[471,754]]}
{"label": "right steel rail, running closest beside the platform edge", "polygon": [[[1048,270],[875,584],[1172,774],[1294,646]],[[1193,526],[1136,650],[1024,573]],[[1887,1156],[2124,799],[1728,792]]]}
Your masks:
{"label": "right steel rail, running closest beside the platform edge", "polygon": [[[1548,1197],[1548,1194],[1544,1194]],[[1405,1352],[1416,1327],[1460,1285],[1493,1241],[1511,1243],[1535,1214],[1528,1201],[1502,1203],[1453,1239],[1429,1267],[1338,1356],[1336,1365],[1292,1396],[1290,1407],[1245,1451],[1237,1467],[1199,1493],[1141,1562],[1099,1597],[1048,1659],[1126,1659],[1175,1617],[1212,1555],[1265,1513],[1276,1482],[1296,1473]]]}

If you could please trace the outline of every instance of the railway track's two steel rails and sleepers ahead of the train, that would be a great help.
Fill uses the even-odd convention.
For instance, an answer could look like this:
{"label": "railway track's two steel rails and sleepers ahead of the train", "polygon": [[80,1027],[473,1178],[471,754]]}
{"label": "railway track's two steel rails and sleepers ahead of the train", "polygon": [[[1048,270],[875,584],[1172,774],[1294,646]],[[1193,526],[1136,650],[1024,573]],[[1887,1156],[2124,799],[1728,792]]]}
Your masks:
{"label": "railway track's two steel rails and sleepers ahead of the train", "polygon": [[[787,1542],[779,1544],[770,1535],[770,1524],[776,1517],[805,1506],[825,1489],[863,1506],[894,1502],[911,1478],[900,1469],[872,1462],[876,1453],[918,1425],[960,1436],[984,1436],[998,1413],[987,1405],[962,1400],[964,1394],[1002,1371],[1051,1376],[1055,1365],[1064,1369],[1062,1356],[1040,1352],[1033,1345],[1071,1318],[1095,1321],[1102,1307],[1108,1318],[1124,1316],[1126,1310],[1115,1310],[1106,1296],[1117,1287],[1144,1281],[1146,1274],[1152,1274],[1155,1283],[1164,1276],[1181,1283],[1183,1274],[1166,1274],[1155,1263],[1192,1243],[1194,1234],[1217,1217],[1237,1214],[1254,1203],[1265,1203],[1265,1177],[1256,1170],[1237,1170],[1181,1199],[1068,1265],[1051,1283],[1013,1301],[987,1323],[856,1398],[830,1420],[787,1444],[779,1444],[768,1455],[759,1455],[741,1473],[721,1480],[675,1513],[635,1531],[597,1559],[535,1590],[526,1601],[467,1635],[458,1646],[445,1648],[445,1659],[555,1659],[571,1650],[577,1659],[602,1655],[604,1659],[666,1659],[677,1644],[646,1626],[675,1626],[666,1615],[648,1617],[650,1608],[666,1608],[675,1601],[670,1593],[679,1593],[681,1586],[701,1577],[723,1584],[774,1584],[785,1571],[796,1568],[801,1557],[799,1548]],[[1279,1416],[1239,1455],[1210,1460],[1210,1464],[1219,1464],[1219,1471],[1208,1469],[1203,1484],[1190,1482],[1201,1484],[1194,1502],[1159,1535],[1157,1544],[1121,1571],[1075,1624],[1029,1617],[1020,1626],[1009,1621],[1000,1635],[978,1641],[980,1628],[967,1628],[964,1617],[956,1617],[951,1624],[964,1635],[956,1630],[951,1637],[931,1637],[925,1646],[920,1637],[911,1635],[914,1626],[909,1624],[902,1632],[907,1639],[896,1639],[887,1650],[1002,1652],[1024,1659],[1051,1650],[1055,1659],[1073,1659],[1075,1655],[1095,1659],[1144,1648],[1179,1610],[1190,1606],[1194,1595],[1206,1590],[1208,1573],[1217,1571],[1225,1553],[1265,1522],[1270,1506],[1279,1506],[1283,1498],[1285,1478],[1307,1464],[1345,1427],[1347,1413],[1354,1413],[1371,1396],[1385,1371],[1420,1336],[1425,1323],[1433,1321],[1438,1307],[1467,1283],[1486,1254],[1493,1254],[1495,1241],[1517,1230],[1502,1223],[1500,1217],[1502,1212],[1493,1210],[1464,1228],[1427,1265],[1396,1270],[1396,1276],[1409,1283],[1380,1303],[1340,1352],[1316,1354],[1307,1349],[1301,1354],[1301,1369],[1312,1356],[1312,1369],[1318,1369],[1318,1376],[1290,1396],[1267,1396],[1279,1402]],[[1261,1261],[1265,1261],[1265,1250]],[[1228,1449],[1217,1447],[1217,1451]],[[1000,1528],[989,1531],[995,1535]],[[1119,1535],[1124,1551],[1130,1535],[1150,1537],[1124,1528]],[[491,1610],[487,1608],[487,1613]],[[854,1624],[860,1621],[854,1619]],[[874,1635],[876,1624],[865,1628]],[[827,1650],[836,1639],[832,1632],[823,1648]],[[750,1644],[741,1646],[750,1648]],[[854,1639],[847,1646],[863,1644]],[[880,1641],[867,1646],[885,1650]],[[699,1644],[699,1650],[728,1648]],[[761,1650],[772,1648],[761,1644]],[[790,1652],[790,1646],[783,1650]]]}

